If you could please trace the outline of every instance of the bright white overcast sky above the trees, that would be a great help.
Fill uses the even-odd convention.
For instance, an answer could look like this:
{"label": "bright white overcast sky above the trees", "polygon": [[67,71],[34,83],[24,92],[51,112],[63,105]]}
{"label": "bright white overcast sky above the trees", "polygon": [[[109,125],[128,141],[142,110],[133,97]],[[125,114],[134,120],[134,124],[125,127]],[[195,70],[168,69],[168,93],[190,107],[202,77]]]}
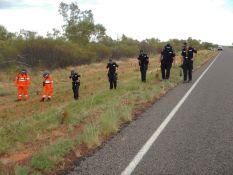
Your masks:
{"label": "bright white overcast sky above the trees", "polygon": [[[233,43],[233,0],[61,0],[91,9],[96,23],[116,39],[192,37],[221,45]],[[10,32],[46,35],[61,28],[60,0],[0,0],[0,24]]]}

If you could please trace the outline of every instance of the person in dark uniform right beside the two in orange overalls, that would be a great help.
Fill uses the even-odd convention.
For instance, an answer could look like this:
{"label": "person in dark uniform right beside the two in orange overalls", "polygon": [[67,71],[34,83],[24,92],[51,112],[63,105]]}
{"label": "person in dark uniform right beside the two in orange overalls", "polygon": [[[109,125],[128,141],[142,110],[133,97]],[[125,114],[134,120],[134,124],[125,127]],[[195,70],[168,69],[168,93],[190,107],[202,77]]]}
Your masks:
{"label": "person in dark uniform right beside the two in orange overalls", "polygon": [[70,73],[70,79],[72,79],[72,90],[74,93],[74,99],[79,99],[79,86],[80,86],[80,75],[74,70]]}

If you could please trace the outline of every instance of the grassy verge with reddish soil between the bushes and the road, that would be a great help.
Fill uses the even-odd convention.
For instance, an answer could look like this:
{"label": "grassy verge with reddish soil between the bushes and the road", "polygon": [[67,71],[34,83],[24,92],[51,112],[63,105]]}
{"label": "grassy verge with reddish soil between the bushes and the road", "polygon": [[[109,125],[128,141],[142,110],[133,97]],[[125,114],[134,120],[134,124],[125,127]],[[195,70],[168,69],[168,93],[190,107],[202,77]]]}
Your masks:
{"label": "grassy verge with reddish soil between the bushes and the road", "polygon": [[[216,54],[200,51],[194,67],[199,67]],[[31,75],[30,98],[22,103],[14,101],[14,75],[7,74],[4,79],[0,74],[3,94],[0,95],[0,164],[2,158],[9,157],[7,155],[27,150],[32,152],[28,163],[14,166],[15,174],[27,173],[28,168],[30,174],[48,174],[74,147],[99,146],[104,137],[116,133],[123,123],[130,122],[135,110],[140,111],[148,101],[160,98],[181,82],[179,63],[173,66],[170,81],[156,80],[158,59],[156,56],[150,60],[147,83],[139,80],[136,59],[119,61],[119,87],[113,91],[108,90],[107,70],[103,69],[106,63],[78,67],[82,76],[79,101],[72,97],[68,78],[71,67],[52,72],[55,89],[54,98],[49,103],[39,102],[40,73]],[[36,95],[38,90],[39,96]],[[0,166],[0,172],[3,169],[4,165]]]}

